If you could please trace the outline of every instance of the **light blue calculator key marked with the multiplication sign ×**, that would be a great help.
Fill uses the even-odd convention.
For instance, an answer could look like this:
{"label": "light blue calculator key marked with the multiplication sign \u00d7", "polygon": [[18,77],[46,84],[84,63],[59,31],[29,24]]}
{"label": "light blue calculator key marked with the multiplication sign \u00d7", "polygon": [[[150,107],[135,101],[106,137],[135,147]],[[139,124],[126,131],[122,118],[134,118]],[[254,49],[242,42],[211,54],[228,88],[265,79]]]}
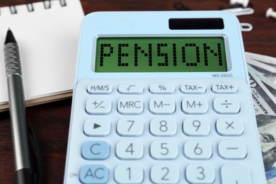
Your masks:
{"label": "light blue calculator key marked with the multiplication sign \u00d7", "polygon": [[238,136],[243,134],[243,122],[234,117],[219,118],[216,123],[217,132],[224,136]]}

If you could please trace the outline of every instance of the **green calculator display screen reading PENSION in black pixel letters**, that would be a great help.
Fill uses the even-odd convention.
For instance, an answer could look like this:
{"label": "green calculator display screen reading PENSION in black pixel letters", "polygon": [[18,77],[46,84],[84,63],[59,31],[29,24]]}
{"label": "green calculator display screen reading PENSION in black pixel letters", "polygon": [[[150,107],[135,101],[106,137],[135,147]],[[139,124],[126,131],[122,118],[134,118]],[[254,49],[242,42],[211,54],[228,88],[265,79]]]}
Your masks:
{"label": "green calculator display screen reading PENSION in black pixel letters", "polygon": [[224,38],[98,38],[95,71],[227,71]]}

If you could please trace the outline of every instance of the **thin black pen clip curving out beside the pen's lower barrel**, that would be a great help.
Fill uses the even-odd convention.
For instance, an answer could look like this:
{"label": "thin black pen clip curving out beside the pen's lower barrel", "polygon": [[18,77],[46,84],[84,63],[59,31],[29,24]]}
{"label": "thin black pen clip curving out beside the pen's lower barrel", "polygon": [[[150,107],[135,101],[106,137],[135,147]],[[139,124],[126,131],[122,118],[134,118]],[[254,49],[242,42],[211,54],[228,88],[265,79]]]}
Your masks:
{"label": "thin black pen clip curving out beside the pen's lower barrel", "polygon": [[35,154],[35,169],[34,169],[34,181],[35,184],[41,183],[41,177],[42,177],[42,156],[40,151],[40,145],[38,143],[38,139],[35,136],[35,132],[33,130],[33,127],[28,126],[29,129],[29,135],[30,135],[30,142],[33,146],[33,151]]}

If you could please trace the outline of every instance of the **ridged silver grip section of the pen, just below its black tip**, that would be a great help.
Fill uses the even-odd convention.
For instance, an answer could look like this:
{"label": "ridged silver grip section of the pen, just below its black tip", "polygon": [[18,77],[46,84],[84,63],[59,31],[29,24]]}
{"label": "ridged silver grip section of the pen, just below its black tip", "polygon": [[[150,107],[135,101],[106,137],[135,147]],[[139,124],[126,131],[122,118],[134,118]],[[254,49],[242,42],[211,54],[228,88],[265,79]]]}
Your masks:
{"label": "ridged silver grip section of the pen, just below its black tip", "polygon": [[8,43],[4,45],[4,50],[6,53],[5,54],[6,77],[14,74],[22,76],[18,45],[12,42]]}

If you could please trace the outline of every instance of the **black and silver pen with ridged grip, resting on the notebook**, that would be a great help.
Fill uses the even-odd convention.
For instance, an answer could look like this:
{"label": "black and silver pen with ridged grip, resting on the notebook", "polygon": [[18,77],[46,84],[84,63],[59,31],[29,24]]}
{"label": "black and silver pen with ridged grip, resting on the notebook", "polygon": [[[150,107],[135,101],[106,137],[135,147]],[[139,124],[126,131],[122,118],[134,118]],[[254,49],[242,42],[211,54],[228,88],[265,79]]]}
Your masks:
{"label": "black and silver pen with ridged grip, resting on the notebook", "polygon": [[15,159],[16,183],[34,183],[30,157],[28,128],[25,117],[25,97],[21,62],[16,39],[10,29],[4,44],[6,80],[8,84],[8,105],[11,115],[11,133]]}

